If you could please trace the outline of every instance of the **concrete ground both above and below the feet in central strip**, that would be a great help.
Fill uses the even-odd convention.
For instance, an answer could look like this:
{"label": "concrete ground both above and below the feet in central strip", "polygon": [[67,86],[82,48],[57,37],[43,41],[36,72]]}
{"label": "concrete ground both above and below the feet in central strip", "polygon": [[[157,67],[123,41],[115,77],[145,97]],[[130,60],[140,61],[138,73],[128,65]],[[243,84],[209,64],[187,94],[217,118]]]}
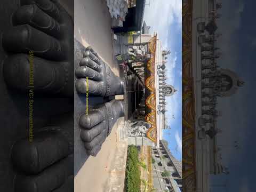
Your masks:
{"label": "concrete ground both above and below the feet in central strip", "polygon": [[[119,76],[119,65],[114,58],[111,18],[106,1],[75,0],[74,12],[75,39],[85,47],[92,46],[114,74]],[[75,95],[75,100],[76,98]],[[97,100],[97,98],[91,99]],[[118,96],[116,99],[123,99],[123,97]],[[122,121],[123,118],[118,119],[96,157],[84,154],[82,151],[84,146],[77,142],[79,146],[78,150],[75,149],[75,153],[82,155],[78,154],[78,161],[75,162],[75,164],[79,164],[75,165],[76,192],[123,191],[127,143],[119,141],[118,138],[118,125]],[[79,136],[75,131],[76,137]]]}

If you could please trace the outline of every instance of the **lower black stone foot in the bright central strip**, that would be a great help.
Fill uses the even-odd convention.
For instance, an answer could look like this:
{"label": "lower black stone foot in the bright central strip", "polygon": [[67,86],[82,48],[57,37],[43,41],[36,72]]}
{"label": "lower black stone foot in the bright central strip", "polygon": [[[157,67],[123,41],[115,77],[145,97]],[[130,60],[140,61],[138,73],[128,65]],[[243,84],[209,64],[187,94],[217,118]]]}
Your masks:
{"label": "lower black stone foot in the bright central strip", "polygon": [[115,122],[122,116],[124,116],[123,100],[111,100],[90,109],[88,114],[79,116],[80,136],[90,155],[96,156],[99,153]]}

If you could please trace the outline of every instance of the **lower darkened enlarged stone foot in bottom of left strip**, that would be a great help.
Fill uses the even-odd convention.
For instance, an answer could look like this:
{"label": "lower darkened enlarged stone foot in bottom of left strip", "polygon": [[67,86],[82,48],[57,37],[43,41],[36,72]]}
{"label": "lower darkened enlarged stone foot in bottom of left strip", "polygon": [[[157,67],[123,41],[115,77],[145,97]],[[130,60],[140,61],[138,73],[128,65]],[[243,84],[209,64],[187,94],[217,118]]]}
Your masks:
{"label": "lower darkened enlarged stone foot in bottom of left strip", "polygon": [[[71,127],[72,128],[72,127]],[[11,159],[17,174],[14,192],[74,191],[73,134],[60,127],[44,127],[14,143]]]}

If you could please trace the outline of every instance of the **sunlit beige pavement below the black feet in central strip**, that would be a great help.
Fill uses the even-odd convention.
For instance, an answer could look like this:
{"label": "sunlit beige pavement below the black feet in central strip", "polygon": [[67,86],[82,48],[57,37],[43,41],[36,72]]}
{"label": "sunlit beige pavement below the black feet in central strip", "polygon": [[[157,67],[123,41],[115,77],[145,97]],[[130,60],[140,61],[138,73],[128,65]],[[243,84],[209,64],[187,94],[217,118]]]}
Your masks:
{"label": "sunlit beige pavement below the black feet in central strip", "polygon": [[119,141],[118,130],[123,117],[96,157],[90,156],[75,177],[75,192],[121,192],[124,189],[127,142]]}

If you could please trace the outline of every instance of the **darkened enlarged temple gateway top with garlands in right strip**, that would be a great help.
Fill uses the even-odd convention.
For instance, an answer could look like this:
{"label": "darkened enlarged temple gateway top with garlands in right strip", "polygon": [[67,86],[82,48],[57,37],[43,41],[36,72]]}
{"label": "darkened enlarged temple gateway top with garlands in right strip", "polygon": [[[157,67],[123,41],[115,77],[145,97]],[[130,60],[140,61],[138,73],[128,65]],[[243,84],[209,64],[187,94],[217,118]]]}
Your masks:
{"label": "darkened enlarged temple gateway top with garlands in right strip", "polygon": [[211,191],[211,174],[229,174],[218,145],[222,127],[217,126],[221,118],[217,105],[218,100],[231,97],[245,83],[236,73],[218,65],[221,6],[215,0],[183,1],[182,188],[186,192]]}

